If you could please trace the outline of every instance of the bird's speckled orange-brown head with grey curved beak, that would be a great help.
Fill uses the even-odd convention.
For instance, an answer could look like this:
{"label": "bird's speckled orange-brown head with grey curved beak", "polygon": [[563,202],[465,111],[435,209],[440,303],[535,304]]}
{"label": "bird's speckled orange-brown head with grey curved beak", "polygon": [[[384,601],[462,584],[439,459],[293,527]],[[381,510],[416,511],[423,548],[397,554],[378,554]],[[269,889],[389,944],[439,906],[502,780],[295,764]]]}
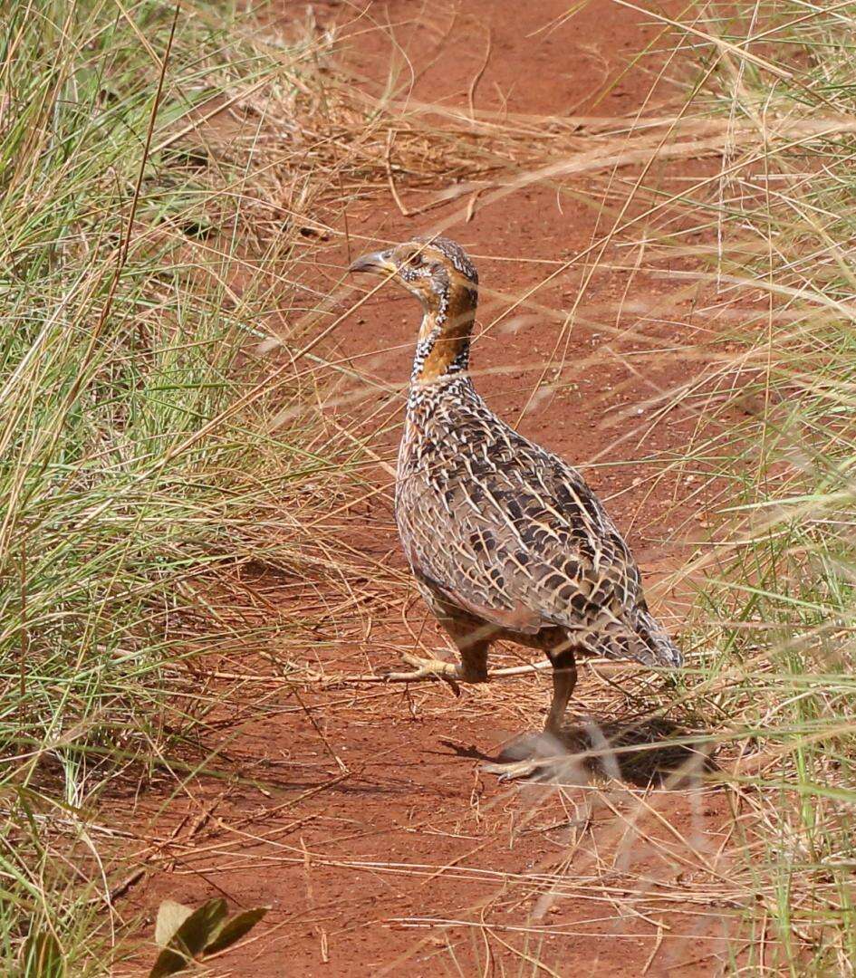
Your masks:
{"label": "bird's speckled orange-brown head with grey curved beak", "polygon": [[460,244],[448,238],[414,238],[357,258],[351,272],[388,276],[415,295],[426,313],[446,315],[475,307],[478,275]]}

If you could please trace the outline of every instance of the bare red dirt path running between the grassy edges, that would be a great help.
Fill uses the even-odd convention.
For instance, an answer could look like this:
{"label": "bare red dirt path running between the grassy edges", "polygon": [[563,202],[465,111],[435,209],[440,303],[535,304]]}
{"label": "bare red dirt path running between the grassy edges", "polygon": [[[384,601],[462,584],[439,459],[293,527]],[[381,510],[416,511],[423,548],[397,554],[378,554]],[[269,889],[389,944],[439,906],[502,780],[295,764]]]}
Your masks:
{"label": "bare red dirt path running between the grassy edges", "polygon": [[[566,6],[372,4],[371,19],[348,28],[347,57],[367,84],[381,82],[394,35],[400,80],[411,68],[416,76],[404,95],[468,111],[614,116],[641,108],[652,76],[622,72],[656,28],[609,0],[550,28]],[[348,10],[319,6],[318,15],[341,19]],[[668,97],[664,86],[655,91],[655,100]],[[698,165],[672,167],[663,180]],[[564,457],[597,461],[587,477],[651,587],[695,525],[692,506],[672,506],[678,487],[639,461],[679,447],[696,422],[680,408],[650,420],[651,398],[690,369],[661,352],[693,329],[689,298],[663,277],[634,271],[635,256],[616,242],[597,274],[583,262],[506,315],[559,262],[608,232],[635,175],[533,186],[496,206],[475,198],[472,220],[449,233],[471,251],[484,285],[474,349],[482,392]],[[400,193],[410,206],[422,200]],[[458,200],[406,218],[388,194],[365,200],[348,214],[350,246],[401,240],[466,209]],[[344,259],[337,245],[331,263],[340,268]],[[571,309],[572,323],[563,325]],[[417,323],[412,303],[386,290],[326,351],[351,369],[330,395],[331,423],[371,433],[382,460],[394,454],[395,390],[409,373]],[[549,385],[532,398],[548,361]],[[365,600],[331,621],[307,653],[328,677],[367,672],[420,642],[442,644],[403,589],[392,603],[380,585],[373,591],[373,561],[389,573],[403,563],[388,473],[378,467],[369,479],[383,492],[354,506],[348,538],[365,557]],[[276,581],[256,587],[264,600],[282,600]],[[653,602],[661,601],[653,587]],[[663,608],[667,620],[680,618],[677,601]],[[719,792],[652,787],[663,761],[653,750],[632,755],[608,786],[576,768],[563,786],[508,786],[480,773],[479,758],[540,727],[548,682],[546,674],[527,677],[460,698],[445,687],[307,689],[301,703],[285,688],[260,695],[248,687],[248,703],[236,708],[241,724],[225,729],[222,742],[258,788],[203,784],[177,799],[173,819],[211,814],[192,844],[175,850],[171,871],[154,875],[135,899],[153,909],[164,896],[198,904],[218,894],[244,907],[271,905],[253,940],[218,962],[218,973],[230,975],[716,973],[728,955],[727,929],[704,881],[722,844]],[[646,682],[626,670],[587,671],[573,708],[597,728],[586,733],[581,723],[569,741],[592,729],[655,739],[657,725],[628,734]]]}

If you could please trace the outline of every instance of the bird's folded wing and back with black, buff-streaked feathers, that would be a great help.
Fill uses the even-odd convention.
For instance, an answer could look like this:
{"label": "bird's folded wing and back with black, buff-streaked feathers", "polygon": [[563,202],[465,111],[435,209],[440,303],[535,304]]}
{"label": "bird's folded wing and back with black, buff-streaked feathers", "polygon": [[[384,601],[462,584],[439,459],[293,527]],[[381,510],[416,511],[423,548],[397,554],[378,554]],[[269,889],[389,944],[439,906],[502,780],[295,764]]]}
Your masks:
{"label": "bird's folded wing and back with black, buff-streaked feathers", "polygon": [[445,446],[441,460],[428,454],[425,470],[402,473],[396,517],[414,571],[502,628],[558,625],[596,654],[678,664],[633,556],[582,475],[492,421],[468,451],[450,458]]}

